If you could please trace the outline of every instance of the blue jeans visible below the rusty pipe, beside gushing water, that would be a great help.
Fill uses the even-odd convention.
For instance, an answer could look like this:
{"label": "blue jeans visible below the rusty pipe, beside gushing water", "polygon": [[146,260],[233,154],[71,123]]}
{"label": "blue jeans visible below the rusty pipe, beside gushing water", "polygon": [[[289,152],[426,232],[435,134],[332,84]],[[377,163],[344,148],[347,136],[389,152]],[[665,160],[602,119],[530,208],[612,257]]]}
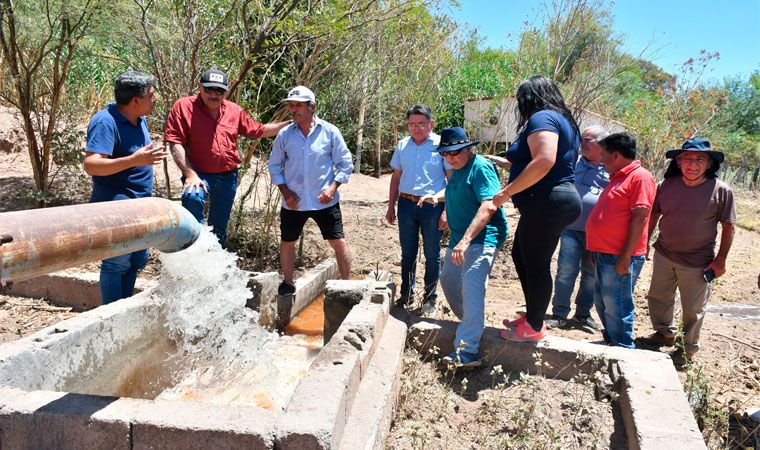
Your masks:
{"label": "blue jeans visible below the rusty pipe, beside gushing water", "polygon": [[131,297],[137,272],[147,263],[147,249],[104,259],[100,263],[100,298],[103,304]]}

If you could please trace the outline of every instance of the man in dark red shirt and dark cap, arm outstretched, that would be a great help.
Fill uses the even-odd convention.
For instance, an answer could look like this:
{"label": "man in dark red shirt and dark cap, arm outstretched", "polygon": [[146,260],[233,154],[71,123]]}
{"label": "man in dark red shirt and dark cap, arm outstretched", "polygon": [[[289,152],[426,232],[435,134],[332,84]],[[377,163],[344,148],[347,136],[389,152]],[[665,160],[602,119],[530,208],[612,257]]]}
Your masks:
{"label": "man in dark red shirt and dark cap, arm outstretched", "polygon": [[203,209],[210,201],[208,224],[224,246],[242,162],[238,135],[251,139],[275,136],[290,121],[262,125],[225,100],[227,74],[221,70],[203,72],[198,88],[198,95],[172,105],[165,140],[182,171],[182,206],[204,223]]}

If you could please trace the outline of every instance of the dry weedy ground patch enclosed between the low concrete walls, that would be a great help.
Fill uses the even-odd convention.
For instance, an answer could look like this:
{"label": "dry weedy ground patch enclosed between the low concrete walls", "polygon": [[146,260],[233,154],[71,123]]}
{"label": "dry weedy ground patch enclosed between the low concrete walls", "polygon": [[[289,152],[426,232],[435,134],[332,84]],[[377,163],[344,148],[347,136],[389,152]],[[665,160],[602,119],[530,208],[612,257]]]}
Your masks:
{"label": "dry weedy ground patch enclosed between the low concrete walls", "polygon": [[609,448],[616,396],[604,362],[588,358],[560,380],[567,368],[540,351],[533,367],[512,373],[440,365],[441,350],[417,336],[408,346],[387,448]]}

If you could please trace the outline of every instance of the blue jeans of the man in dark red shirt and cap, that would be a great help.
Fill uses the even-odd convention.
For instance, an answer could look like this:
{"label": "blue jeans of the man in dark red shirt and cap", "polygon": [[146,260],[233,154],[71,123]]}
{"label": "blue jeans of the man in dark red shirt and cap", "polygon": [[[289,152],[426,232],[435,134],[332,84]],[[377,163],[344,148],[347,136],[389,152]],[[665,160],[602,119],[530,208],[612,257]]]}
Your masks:
{"label": "blue jeans of the man in dark red shirt and cap", "polygon": [[[206,206],[206,198],[210,197],[211,205],[208,208],[208,224],[213,227],[213,233],[224,247],[227,241],[227,223],[230,221],[232,204],[237,192],[238,171],[231,170],[224,173],[197,172],[198,177],[206,183],[208,193],[200,189],[199,192],[185,191],[182,193],[182,206],[185,207],[200,223],[205,223],[203,208]],[[185,177],[182,177],[182,183]]]}

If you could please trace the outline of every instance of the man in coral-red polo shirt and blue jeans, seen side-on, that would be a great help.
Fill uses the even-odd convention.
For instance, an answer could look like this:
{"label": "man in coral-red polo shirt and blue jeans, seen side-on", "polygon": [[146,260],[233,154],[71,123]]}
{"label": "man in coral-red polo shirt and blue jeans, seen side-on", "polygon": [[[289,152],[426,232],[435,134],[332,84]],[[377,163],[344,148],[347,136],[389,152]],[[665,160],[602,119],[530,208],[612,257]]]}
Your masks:
{"label": "man in coral-red polo shirt and blue jeans, seen side-on", "polygon": [[636,139],[615,133],[598,142],[610,184],[586,222],[586,249],[596,264],[594,305],[604,326],[604,340],[627,348],[633,344],[633,288],[647,253],[647,224],[656,185],[636,160]]}

